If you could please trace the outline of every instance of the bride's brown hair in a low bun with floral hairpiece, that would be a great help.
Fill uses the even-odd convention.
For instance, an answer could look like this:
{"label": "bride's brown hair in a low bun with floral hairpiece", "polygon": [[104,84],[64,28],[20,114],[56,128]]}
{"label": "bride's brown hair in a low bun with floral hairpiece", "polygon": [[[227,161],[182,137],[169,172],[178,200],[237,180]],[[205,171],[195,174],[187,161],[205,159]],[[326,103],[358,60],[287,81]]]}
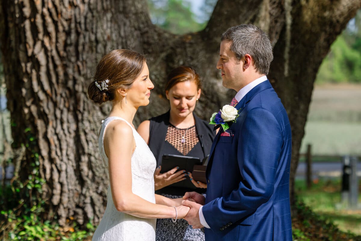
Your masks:
{"label": "bride's brown hair in a low bun with floral hairpiece", "polygon": [[[145,57],[131,50],[113,50],[106,54],[96,66],[94,80],[88,87],[88,95],[95,104],[101,104],[115,98],[119,88],[129,89],[142,72]],[[109,79],[108,90],[100,90],[95,81],[101,83]]]}

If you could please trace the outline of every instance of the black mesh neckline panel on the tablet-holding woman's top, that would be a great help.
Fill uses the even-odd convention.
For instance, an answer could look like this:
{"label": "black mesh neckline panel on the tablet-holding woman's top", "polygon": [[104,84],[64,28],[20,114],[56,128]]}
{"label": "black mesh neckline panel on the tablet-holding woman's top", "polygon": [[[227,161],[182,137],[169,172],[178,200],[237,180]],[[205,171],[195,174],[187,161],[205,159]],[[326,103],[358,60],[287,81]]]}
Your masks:
{"label": "black mesh neckline panel on the tablet-holding woman's top", "polygon": [[179,129],[174,125],[169,125],[165,140],[174,146],[184,156],[192,150],[192,148],[199,142],[196,133],[196,126],[193,125],[187,129]]}

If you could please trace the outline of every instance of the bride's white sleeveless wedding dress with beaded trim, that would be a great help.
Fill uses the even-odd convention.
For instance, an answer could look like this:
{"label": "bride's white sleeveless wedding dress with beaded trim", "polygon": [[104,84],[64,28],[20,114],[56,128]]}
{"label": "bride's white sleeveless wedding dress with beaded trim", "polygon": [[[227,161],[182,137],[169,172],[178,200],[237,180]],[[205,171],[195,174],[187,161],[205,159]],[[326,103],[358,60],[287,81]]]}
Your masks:
{"label": "bride's white sleeveless wedding dress with beaded trim", "polygon": [[[155,203],[154,171],[156,160],[147,143],[136,130],[120,117],[108,117],[101,125],[99,151],[108,170],[108,157],[104,151],[104,132],[113,120],[125,121],[133,130],[135,151],[131,158],[132,191],[139,197]],[[108,173],[108,172],[107,172]],[[109,176],[109,174],[108,174]],[[108,203],[103,218],[94,232],[92,241],[155,241],[156,219],[137,218],[119,212],[113,203],[112,192],[108,187]]]}

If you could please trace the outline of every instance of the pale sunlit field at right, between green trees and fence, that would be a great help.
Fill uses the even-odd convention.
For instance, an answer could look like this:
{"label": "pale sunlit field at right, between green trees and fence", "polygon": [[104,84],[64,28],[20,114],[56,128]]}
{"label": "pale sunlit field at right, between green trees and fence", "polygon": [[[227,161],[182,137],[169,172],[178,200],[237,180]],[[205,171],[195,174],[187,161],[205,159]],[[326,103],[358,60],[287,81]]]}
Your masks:
{"label": "pale sunlit field at right, between green trees and fence", "polygon": [[300,153],[309,143],[312,154],[361,156],[361,85],[315,86]]}

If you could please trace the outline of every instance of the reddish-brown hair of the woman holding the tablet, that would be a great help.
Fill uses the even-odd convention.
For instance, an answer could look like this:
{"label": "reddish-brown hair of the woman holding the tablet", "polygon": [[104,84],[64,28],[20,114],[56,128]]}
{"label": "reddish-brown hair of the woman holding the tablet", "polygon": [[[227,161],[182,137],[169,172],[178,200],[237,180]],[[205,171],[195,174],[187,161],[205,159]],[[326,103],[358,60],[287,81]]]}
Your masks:
{"label": "reddish-brown hair of the woman holding the tablet", "polygon": [[175,84],[184,81],[195,81],[197,90],[201,89],[201,81],[196,71],[189,66],[179,66],[168,74],[165,91],[169,91]]}

